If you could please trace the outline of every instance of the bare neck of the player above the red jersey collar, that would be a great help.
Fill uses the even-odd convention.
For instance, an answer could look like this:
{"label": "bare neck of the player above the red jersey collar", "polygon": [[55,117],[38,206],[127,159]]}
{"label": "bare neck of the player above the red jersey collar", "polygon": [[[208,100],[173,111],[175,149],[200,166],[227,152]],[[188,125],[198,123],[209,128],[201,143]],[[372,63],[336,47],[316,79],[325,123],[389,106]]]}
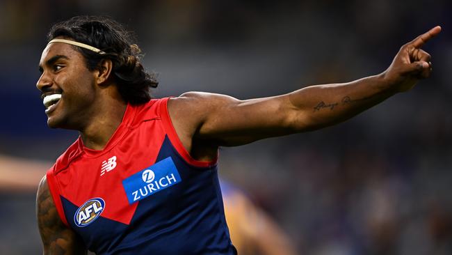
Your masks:
{"label": "bare neck of the player above the red jersey collar", "polygon": [[121,124],[126,109],[127,103],[117,101],[98,111],[97,118],[92,119],[90,125],[80,130],[83,144],[93,150],[104,149]]}

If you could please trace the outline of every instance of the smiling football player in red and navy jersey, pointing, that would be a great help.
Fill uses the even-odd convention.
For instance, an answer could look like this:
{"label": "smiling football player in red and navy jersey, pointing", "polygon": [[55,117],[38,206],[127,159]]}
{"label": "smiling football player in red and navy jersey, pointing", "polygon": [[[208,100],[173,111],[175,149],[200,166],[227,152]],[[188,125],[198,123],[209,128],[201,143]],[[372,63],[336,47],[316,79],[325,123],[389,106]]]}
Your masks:
{"label": "smiling football player in red and navy jersey, pointing", "polygon": [[115,22],[56,24],[42,52],[49,127],[80,137],[42,178],[37,214],[45,254],[235,254],[225,223],[219,146],[333,125],[407,91],[432,70],[422,45],[401,47],[380,75],[236,100],[184,93],[151,99],[157,84]]}

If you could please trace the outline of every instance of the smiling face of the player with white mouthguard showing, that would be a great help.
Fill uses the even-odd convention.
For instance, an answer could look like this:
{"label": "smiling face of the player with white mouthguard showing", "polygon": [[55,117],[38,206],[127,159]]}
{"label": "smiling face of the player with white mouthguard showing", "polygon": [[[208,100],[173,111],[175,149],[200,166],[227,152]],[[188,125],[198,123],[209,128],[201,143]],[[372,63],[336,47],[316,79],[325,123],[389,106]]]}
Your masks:
{"label": "smiling face of the player with white mouthguard showing", "polygon": [[83,129],[96,109],[96,71],[88,70],[72,45],[58,42],[47,45],[39,67],[42,75],[36,86],[42,93],[47,125]]}

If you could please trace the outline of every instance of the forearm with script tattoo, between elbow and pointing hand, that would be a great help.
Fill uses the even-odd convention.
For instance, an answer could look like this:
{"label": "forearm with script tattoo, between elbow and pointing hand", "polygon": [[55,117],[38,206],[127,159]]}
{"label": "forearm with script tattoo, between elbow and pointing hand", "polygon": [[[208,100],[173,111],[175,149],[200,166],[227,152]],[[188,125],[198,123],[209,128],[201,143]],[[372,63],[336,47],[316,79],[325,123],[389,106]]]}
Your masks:
{"label": "forearm with script tattoo, between elbow and pointing hand", "polygon": [[288,94],[291,129],[315,130],[334,125],[377,105],[394,95],[383,75],[358,79],[346,84],[316,85]]}

